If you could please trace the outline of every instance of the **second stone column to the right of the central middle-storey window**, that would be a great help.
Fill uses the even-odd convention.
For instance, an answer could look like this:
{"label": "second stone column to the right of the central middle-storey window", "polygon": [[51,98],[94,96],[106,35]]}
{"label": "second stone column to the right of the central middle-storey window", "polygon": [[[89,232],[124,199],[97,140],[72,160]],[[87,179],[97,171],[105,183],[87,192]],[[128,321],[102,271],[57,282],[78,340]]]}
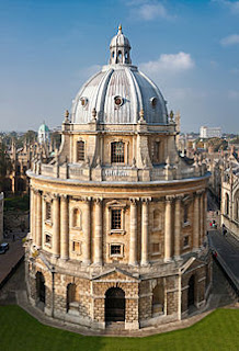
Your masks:
{"label": "second stone column to the right of the central middle-storey window", "polygon": [[141,204],[141,265],[148,264],[148,199]]}

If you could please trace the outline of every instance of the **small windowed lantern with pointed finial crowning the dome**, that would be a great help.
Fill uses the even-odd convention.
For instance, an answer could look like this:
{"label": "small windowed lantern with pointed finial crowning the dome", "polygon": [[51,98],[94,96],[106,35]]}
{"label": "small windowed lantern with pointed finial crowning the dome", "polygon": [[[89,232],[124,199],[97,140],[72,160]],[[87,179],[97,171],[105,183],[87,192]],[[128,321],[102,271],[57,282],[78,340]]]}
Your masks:
{"label": "small windowed lantern with pointed finial crowning the dome", "polygon": [[130,44],[128,38],[122,32],[122,25],[118,26],[117,34],[113,37],[110,45],[111,58],[110,65],[121,64],[130,65]]}

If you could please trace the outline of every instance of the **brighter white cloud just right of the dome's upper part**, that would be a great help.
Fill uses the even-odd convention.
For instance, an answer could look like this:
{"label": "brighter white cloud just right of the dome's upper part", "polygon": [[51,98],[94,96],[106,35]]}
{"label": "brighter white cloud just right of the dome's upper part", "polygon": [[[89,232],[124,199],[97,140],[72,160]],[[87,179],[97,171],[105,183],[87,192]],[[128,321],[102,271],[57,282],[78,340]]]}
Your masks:
{"label": "brighter white cloud just right of the dome's upper part", "polygon": [[190,54],[178,53],[178,54],[162,54],[158,60],[148,61],[140,65],[143,71],[148,73],[157,72],[182,72],[189,70],[195,66],[194,60]]}

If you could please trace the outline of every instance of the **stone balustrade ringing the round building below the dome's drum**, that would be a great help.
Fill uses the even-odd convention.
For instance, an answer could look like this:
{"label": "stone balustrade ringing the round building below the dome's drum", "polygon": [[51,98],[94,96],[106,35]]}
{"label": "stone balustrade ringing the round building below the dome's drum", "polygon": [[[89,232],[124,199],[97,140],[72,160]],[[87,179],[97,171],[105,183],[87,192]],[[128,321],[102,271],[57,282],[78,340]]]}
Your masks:
{"label": "stone balustrade ringing the round building below the dome's drum", "polygon": [[59,165],[56,161],[43,163],[37,160],[31,171],[37,176],[72,181],[106,181],[106,182],[149,182],[193,179],[206,174],[206,166],[192,166],[180,161],[177,165],[137,168],[136,166],[102,166],[91,167],[87,163]]}

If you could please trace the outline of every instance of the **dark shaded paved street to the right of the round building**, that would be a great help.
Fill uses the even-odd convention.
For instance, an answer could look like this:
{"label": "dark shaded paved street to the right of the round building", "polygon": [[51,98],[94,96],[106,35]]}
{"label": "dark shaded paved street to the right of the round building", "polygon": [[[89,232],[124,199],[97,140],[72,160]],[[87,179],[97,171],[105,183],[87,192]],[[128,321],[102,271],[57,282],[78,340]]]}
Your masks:
{"label": "dark shaded paved street to the right of the round building", "polygon": [[221,230],[209,230],[208,237],[218,259],[226,264],[229,275],[239,284],[239,241],[230,234],[223,236]]}

